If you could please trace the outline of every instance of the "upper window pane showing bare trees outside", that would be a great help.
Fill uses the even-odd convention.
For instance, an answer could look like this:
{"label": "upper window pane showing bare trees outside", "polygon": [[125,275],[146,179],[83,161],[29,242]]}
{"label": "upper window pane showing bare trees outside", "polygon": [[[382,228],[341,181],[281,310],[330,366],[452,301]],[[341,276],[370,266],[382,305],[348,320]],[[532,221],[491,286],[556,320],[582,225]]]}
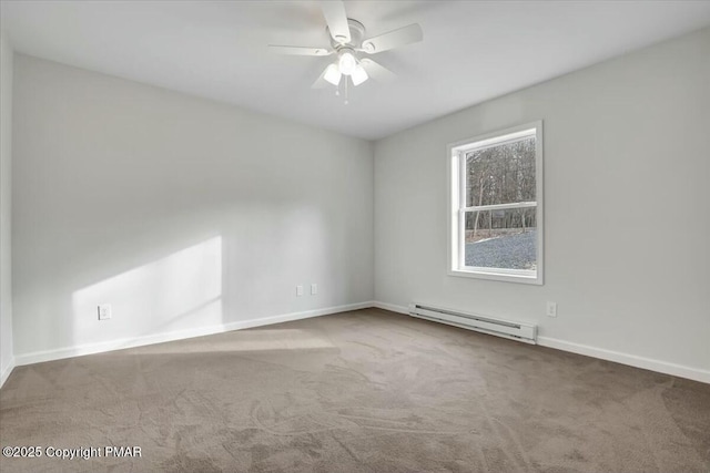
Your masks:
{"label": "upper window pane showing bare trees outside", "polygon": [[466,207],[535,200],[535,136],[466,153]]}

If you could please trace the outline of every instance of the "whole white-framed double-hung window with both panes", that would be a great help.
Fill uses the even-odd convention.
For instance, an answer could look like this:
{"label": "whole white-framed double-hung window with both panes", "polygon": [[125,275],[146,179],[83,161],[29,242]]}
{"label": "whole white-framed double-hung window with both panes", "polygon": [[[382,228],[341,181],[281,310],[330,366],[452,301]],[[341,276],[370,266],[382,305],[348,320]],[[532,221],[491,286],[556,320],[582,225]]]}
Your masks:
{"label": "whole white-framed double-hung window with both panes", "polygon": [[448,269],[542,284],[542,122],[448,146]]}

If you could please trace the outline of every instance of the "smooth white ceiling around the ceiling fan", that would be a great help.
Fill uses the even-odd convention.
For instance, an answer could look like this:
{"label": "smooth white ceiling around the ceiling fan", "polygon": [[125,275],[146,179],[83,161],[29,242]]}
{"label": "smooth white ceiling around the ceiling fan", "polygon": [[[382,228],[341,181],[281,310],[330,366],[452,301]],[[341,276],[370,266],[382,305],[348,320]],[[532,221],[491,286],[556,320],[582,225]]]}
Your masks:
{"label": "smooth white ceiling around the ceiling fan", "polygon": [[376,140],[710,24],[710,1],[346,1],[366,37],[409,23],[424,42],[373,56],[398,74],[349,105],[311,84],[328,58],[316,1],[2,1],[16,51]]}

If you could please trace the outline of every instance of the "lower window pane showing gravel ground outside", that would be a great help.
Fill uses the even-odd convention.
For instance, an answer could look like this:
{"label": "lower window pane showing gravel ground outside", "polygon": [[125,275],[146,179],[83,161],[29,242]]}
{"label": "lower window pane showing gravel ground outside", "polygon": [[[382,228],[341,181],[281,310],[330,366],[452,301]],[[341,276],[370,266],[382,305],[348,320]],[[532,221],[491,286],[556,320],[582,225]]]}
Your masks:
{"label": "lower window pane showing gravel ground outside", "polygon": [[535,207],[466,213],[465,265],[537,269]]}

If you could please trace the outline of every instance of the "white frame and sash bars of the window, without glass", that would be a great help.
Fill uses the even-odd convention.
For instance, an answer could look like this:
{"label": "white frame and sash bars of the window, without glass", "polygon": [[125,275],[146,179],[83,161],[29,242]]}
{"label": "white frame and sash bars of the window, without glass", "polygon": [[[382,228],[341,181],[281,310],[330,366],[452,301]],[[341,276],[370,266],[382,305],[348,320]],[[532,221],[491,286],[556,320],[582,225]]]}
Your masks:
{"label": "white frame and sash bars of the window, without glass", "polygon": [[[466,207],[465,200],[465,154],[481,147],[500,145],[507,141],[520,138],[534,131],[535,134],[535,202],[488,205],[481,207]],[[542,121],[526,123],[506,130],[499,130],[485,135],[450,143],[446,147],[446,181],[448,189],[448,259],[449,276],[460,276],[497,281],[523,282],[532,285],[544,284],[545,268],[545,206],[542,179]],[[465,214],[476,209],[496,210],[506,208],[536,207],[537,219],[537,268],[508,269],[465,266]]]}

